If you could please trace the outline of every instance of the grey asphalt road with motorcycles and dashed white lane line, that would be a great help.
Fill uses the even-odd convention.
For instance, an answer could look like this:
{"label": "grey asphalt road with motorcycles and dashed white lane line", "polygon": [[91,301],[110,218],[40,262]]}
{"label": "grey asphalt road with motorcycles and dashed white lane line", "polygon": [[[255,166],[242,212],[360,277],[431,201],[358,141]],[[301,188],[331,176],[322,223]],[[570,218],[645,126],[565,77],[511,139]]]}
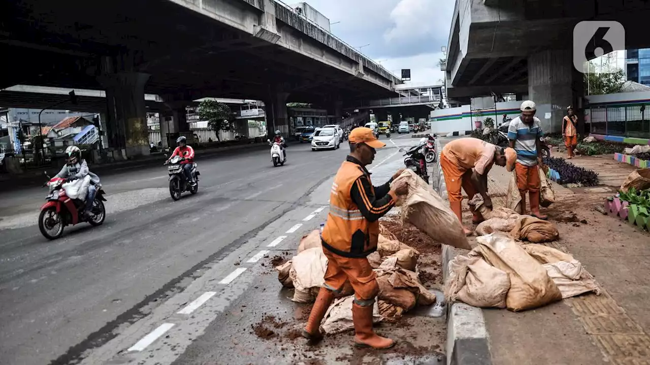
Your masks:
{"label": "grey asphalt road with motorcycles and dashed white lane line", "polygon": [[[375,165],[392,164],[382,178],[399,167],[396,147],[413,143],[409,136],[393,140],[398,143],[376,157]],[[294,249],[296,237],[324,220],[329,181],[346,153],[346,144],[318,152],[293,144],[287,164],[278,168],[268,151],[201,159],[199,193],[176,202],[162,166],[114,171],[101,177],[108,194],[105,223],[66,227],[53,242],[36,226],[45,189],[0,194],[0,363],[173,362],[217,313],[244,292],[254,296],[251,286],[265,282],[259,267],[227,281],[233,270],[246,269],[245,260],[278,234],[289,238],[267,251]],[[207,314],[192,325],[176,323],[167,335],[187,329],[193,336],[155,356],[146,352],[154,345],[127,351],[165,318],[178,319],[175,312],[205,288],[212,288],[214,299],[196,313]]]}

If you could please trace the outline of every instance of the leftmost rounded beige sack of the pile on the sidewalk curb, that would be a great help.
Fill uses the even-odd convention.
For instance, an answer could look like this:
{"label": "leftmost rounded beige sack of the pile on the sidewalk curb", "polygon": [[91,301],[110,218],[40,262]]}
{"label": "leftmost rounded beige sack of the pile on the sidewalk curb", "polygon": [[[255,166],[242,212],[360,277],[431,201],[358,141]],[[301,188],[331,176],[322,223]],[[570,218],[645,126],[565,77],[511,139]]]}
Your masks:
{"label": "leftmost rounded beige sack of the pile on the sidewalk curb", "polygon": [[506,307],[510,278],[506,272],[490,266],[480,256],[480,249],[467,256],[456,256],[449,262],[448,270],[445,297],[449,303],[460,300],[480,308]]}

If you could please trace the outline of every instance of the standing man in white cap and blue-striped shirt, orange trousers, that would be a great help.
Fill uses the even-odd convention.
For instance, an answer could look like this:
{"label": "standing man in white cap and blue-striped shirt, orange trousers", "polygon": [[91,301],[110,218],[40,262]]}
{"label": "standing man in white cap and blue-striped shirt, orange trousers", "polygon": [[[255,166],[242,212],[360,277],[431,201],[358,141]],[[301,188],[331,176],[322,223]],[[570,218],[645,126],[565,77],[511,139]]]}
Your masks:
{"label": "standing man in white cap and blue-striped shirt, orange trousers", "polygon": [[530,197],[530,215],[541,220],[547,219],[539,212],[539,179],[538,165],[541,163],[541,122],[535,116],[537,107],[533,101],[521,103],[521,114],[510,122],[508,140],[510,147],[517,152],[515,175],[517,188],[521,195],[521,214],[526,214],[526,193]]}

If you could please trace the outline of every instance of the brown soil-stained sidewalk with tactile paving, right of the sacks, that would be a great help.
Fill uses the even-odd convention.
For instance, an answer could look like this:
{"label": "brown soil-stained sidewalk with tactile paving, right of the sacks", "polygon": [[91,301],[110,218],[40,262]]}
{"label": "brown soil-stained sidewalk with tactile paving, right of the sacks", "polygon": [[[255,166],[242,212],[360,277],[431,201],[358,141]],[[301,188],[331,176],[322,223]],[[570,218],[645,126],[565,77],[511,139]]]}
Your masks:
{"label": "brown soil-stained sidewalk with tactile paving, right of the sacks", "polygon": [[[495,365],[650,364],[650,235],[593,208],[615,194],[629,166],[606,157],[578,157],[612,188],[567,189],[553,183],[556,203],[542,212],[560,231],[547,244],[571,253],[597,279],[601,296],[565,299],[515,313],[482,310]],[[505,204],[509,174],[494,168],[489,192]],[[465,203],[465,220],[471,220]],[[529,209],[529,208],[528,208]]]}

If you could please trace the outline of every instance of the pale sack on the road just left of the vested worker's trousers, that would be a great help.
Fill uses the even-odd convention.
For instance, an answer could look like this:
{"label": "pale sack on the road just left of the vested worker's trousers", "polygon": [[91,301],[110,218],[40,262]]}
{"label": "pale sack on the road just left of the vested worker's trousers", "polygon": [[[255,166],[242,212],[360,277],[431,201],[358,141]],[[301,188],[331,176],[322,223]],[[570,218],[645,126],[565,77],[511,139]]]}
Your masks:
{"label": "pale sack on the road just left of the vested worker's trousers", "polygon": [[[307,293],[310,288],[320,287],[325,284],[323,279],[327,270],[327,257],[323,254],[321,247],[305,249],[291,259],[292,269],[290,275],[293,279],[294,291],[293,301],[308,303]],[[311,297],[311,294],[309,295]],[[307,301],[305,301],[307,300]]]}

